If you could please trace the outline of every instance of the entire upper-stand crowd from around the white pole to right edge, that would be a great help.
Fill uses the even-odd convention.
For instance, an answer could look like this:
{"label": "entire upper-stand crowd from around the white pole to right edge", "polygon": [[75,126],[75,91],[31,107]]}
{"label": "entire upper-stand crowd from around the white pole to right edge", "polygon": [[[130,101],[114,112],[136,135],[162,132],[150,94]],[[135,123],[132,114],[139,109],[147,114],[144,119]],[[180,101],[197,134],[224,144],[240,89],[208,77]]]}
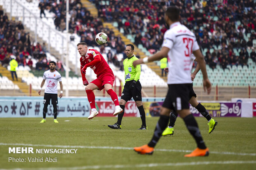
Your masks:
{"label": "entire upper-stand crowd from around the white pole to right edge", "polygon": [[[197,37],[207,64],[214,69],[219,64],[223,69],[227,65],[248,66],[248,58],[256,62],[253,39],[256,39],[256,3],[254,0],[90,0],[98,9],[98,18],[82,6],[81,0],[69,2],[71,20],[69,30],[81,36],[89,46],[97,46],[95,34],[105,32],[109,41],[100,46],[100,52],[108,53],[109,46],[114,53],[108,53],[109,62],[119,67],[116,53],[124,54],[125,44],[109,28],[103,28],[102,22],[117,22],[124,34],[132,34],[135,45],[142,44],[148,51],[161,48],[164,32],[164,9],[176,5],[180,8],[180,22],[192,30]],[[64,0],[41,0],[40,14],[47,9],[55,13],[56,29],[66,29],[66,3]],[[157,12],[156,12],[157,11]],[[113,52],[112,51],[112,52]],[[125,58],[125,54],[124,54]]]}

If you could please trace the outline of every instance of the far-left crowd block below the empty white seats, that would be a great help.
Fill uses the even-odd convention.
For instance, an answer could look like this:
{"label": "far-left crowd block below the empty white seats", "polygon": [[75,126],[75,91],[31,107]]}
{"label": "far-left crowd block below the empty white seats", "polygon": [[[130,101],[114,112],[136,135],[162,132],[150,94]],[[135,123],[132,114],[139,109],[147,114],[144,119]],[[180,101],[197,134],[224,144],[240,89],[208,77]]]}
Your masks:
{"label": "far-left crowd block below the empty white seats", "polygon": [[[21,21],[9,20],[7,14],[0,9],[0,62],[7,67],[12,58],[19,66],[28,66],[31,69],[49,69],[46,59],[45,44],[43,47],[34,44],[29,32],[25,32]],[[33,68],[32,58],[38,60]]]}

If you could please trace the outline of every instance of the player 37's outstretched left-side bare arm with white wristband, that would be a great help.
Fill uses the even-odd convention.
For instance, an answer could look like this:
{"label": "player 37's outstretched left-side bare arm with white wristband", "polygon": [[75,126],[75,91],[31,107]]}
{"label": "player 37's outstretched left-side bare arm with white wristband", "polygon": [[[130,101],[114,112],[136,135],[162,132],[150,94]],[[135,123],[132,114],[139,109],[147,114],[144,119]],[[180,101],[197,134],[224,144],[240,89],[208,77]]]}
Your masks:
{"label": "player 37's outstretched left-side bare arm with white wristband", "polygon": [[153,61],[156,61],[156,60],[161,60],[162,58],[164,58],[168,55],[169,50],[170,50],[169,48],[163,47],[163,48],[161,48],[161,50],[159,52],[155,53],[151,57],[145,57],[143,59],[134,61],[133,66],[136,67],[136,65],[138,65],[138,64],[143,64],[143,63],[147,63],[147,62],[153,62]]}

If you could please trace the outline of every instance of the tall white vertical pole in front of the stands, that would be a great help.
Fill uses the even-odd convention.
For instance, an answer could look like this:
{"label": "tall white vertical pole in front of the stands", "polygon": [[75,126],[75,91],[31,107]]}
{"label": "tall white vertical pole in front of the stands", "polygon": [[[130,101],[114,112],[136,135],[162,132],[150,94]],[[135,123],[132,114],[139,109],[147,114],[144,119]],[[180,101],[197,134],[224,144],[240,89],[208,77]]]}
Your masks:
{"label": "tall white vertical pole in front of the stands", "polygon": [[66,0],[66,97],[69,96],[69,0]]}

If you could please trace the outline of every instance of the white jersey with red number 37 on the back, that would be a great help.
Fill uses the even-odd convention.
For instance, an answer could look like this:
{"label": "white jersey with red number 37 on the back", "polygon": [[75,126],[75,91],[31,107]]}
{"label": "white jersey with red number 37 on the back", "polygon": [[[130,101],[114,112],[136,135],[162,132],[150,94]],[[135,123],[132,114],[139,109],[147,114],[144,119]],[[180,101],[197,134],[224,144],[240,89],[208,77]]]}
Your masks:
{"label": "white jersey with red number 37 on the back", "polygon": [[165,32],[162,47],[170,49],[168,69],[171,74],[168,74],[167,84],[192,83],[190,76],[192,52],[199,49],[194,33],[180,22],[175,22]]}

